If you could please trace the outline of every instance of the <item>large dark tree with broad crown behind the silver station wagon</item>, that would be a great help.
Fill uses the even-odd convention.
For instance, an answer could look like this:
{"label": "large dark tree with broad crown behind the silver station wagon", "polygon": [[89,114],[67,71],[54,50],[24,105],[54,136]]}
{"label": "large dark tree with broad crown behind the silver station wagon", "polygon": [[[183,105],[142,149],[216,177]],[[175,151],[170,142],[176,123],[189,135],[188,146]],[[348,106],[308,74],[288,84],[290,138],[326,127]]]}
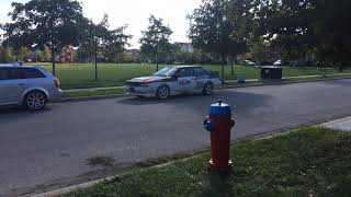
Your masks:
{"label": "large dark tree with broad crown behind the silver station wagon", "polygon": [[50,49],[53,74],[55,57],[67,45],[77,46],[82,8],[76,0],[31,0],[12,3],[12,23],[2,26],[5,44],[14,48]]}

